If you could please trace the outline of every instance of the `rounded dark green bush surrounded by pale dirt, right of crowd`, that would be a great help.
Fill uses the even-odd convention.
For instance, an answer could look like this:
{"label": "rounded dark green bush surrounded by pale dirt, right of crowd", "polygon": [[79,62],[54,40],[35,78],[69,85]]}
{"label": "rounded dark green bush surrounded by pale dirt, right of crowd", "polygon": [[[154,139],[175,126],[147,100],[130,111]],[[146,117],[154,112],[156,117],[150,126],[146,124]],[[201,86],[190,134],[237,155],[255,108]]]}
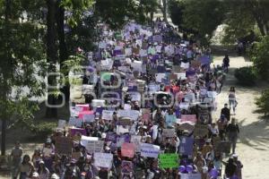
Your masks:
{"label": "rounded dark green bush surrounded by pale dirt, right of crowd", "polygon": [[245,66],[236,69],[234,76],[238,79],[239,84],[253,86],[256,83],[257,77],[252,66]]}

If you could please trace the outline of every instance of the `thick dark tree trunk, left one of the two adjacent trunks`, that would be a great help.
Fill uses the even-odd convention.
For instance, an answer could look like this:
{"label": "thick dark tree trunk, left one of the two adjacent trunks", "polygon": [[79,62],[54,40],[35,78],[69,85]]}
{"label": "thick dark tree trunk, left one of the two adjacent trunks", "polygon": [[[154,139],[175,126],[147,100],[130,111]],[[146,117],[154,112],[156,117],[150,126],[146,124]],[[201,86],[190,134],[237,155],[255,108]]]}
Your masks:
{"label": "thick dark tree trunk, left one of the two adjacent trunks", "polygon": [[[56,72],[57,47],[56,47],[56,0],[47,0],[47,62],[48,75]],[[48,106],[46,116],[53,118],[57,116],[56,98],[56,75],[48,76]]]}

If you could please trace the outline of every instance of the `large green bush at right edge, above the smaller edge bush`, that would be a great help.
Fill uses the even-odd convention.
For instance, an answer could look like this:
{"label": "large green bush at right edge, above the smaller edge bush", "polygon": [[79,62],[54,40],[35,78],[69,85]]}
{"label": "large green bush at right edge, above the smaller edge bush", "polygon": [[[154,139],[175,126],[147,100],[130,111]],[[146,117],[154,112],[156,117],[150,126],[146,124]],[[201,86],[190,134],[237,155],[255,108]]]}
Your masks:
{"label": "large green bush at right edge, above the smaller edge bush", "polygon": [[255,72],[266,80],[269,77],[269,36],[254,45],[250,50],[250,59],[253,62]]}

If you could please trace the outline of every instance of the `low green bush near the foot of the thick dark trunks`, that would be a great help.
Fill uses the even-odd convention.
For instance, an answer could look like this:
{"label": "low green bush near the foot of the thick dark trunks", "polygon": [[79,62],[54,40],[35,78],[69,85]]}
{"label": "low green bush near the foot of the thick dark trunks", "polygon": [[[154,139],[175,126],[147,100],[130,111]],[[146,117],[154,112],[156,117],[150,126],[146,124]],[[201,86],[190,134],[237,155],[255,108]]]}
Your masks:
{"label": "low green bush near the foot of the thick dark trunks", "polygon": [[45,138],[52,134],[56,129],[57,124],[52,122],[41,122],[31,127],[31,132],[34,132],[36,136]]}

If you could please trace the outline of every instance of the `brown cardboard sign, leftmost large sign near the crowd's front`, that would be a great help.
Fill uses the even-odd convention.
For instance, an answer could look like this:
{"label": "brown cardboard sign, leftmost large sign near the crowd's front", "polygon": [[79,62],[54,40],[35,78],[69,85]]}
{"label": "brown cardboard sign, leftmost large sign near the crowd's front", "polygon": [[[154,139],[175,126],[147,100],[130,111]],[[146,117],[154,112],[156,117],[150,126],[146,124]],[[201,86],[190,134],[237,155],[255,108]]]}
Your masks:
{"label": "brown cardboard sign, leftmost large sign near the crowd's front", "polygon": [[73,141],[67,137],[57,137],[55,150],[57,154],[71,155],[73,148]]}

